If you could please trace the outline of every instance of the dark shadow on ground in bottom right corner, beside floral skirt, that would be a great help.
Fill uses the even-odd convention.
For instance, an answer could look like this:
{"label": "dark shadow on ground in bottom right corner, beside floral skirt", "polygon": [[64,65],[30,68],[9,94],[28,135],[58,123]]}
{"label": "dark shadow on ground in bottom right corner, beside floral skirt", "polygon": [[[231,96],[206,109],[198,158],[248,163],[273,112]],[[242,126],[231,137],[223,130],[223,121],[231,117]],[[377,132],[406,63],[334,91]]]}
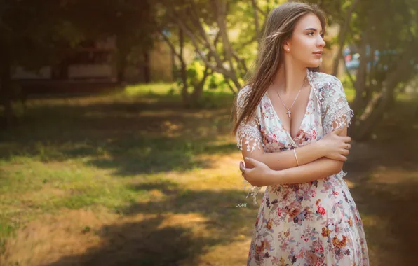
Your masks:
{"label": "dark shadow on ground in bottom right corner, beside floral skirt", "polygon": [[[396,179],[396,176],[393,176]],[[363,218],[371,265],[418,265],[418,180],[401,183],[362,183],[351,189]]]}

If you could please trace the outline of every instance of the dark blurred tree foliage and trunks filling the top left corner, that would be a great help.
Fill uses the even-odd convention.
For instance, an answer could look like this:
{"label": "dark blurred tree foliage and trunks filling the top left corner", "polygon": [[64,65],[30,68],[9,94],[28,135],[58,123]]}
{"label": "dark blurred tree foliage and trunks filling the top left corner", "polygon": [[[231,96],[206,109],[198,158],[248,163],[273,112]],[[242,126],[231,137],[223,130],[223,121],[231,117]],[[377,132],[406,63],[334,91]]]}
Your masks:
{"label": "dark blurred tree foliage and trunks filling the top left corner", "polygon": [[[59,64],[81,41],[116,36],[119,80],[126,59],[136,48],[146,62],[155,33],[150,1],[143,0],[43,0],[0,1],[0,104],[2,125],[13,120],[16,90],[11,73],[15,66],[39,69]],[[139,51],[139,52],[138,52]],[[149,64],[144,64],[149,67]],[[145,80],[149,80],[149,69]]]}

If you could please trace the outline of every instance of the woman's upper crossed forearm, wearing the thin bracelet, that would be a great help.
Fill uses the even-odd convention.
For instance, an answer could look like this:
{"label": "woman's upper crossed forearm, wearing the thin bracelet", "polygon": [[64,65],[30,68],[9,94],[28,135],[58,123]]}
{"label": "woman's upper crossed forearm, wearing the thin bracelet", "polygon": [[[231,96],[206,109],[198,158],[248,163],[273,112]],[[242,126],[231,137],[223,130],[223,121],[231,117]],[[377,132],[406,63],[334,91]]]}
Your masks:
{"label": "woman's upper crossed forearm, wearing the thin bracelet", "polygon": [[[295,149],[295,152],[297,160],[299,161],[299,166],[309,164],[309,162],[314,162],[315,160],[325,156],[323,148],[321,148],[321,146],[319,146],[316,142],[297,148]],[[297,167],[297,161],[293,150],[264,153],[258,156],[249,155],[248,157],[264,162],[264,164],[268,165],[273,170],[283,170]]]}

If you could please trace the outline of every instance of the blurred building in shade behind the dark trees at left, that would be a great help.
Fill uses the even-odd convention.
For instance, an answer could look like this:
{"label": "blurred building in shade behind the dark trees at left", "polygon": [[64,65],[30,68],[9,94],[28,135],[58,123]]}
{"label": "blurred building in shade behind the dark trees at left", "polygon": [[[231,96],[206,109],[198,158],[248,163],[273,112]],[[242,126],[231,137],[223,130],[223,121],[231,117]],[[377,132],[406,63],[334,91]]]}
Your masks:
{"label": "blurred building in shade behind the dark trees at left", "polygon": [[[79,92],[100,90],[118,83],[118,52],[116,38],[84,41],[76,50],[69,50],[58,64],[38,70],[17,67],[12,79],[18,80],[28,92]],[[128,57],[123,71],[128,83],[173,81],[173,55],[166,43],[156,42],[151,50]],[[74,86],[76,85],[76,86]]]}

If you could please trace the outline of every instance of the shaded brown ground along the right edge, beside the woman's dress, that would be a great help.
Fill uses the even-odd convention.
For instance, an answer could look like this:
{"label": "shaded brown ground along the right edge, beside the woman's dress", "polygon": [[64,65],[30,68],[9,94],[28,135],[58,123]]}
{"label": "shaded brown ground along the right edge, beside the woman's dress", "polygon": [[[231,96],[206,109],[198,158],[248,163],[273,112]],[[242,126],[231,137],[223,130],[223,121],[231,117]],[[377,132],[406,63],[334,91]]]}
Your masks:
{"label": "shaded brown ground along the right edge, beside the woman's dress", "polygon": [[365,220],[370,265],[418,265],[418,141],[413,122],[400,121],[391,126],[393,132],[384,131],[398,136],[391,141],[354,144],[344,164]]}

